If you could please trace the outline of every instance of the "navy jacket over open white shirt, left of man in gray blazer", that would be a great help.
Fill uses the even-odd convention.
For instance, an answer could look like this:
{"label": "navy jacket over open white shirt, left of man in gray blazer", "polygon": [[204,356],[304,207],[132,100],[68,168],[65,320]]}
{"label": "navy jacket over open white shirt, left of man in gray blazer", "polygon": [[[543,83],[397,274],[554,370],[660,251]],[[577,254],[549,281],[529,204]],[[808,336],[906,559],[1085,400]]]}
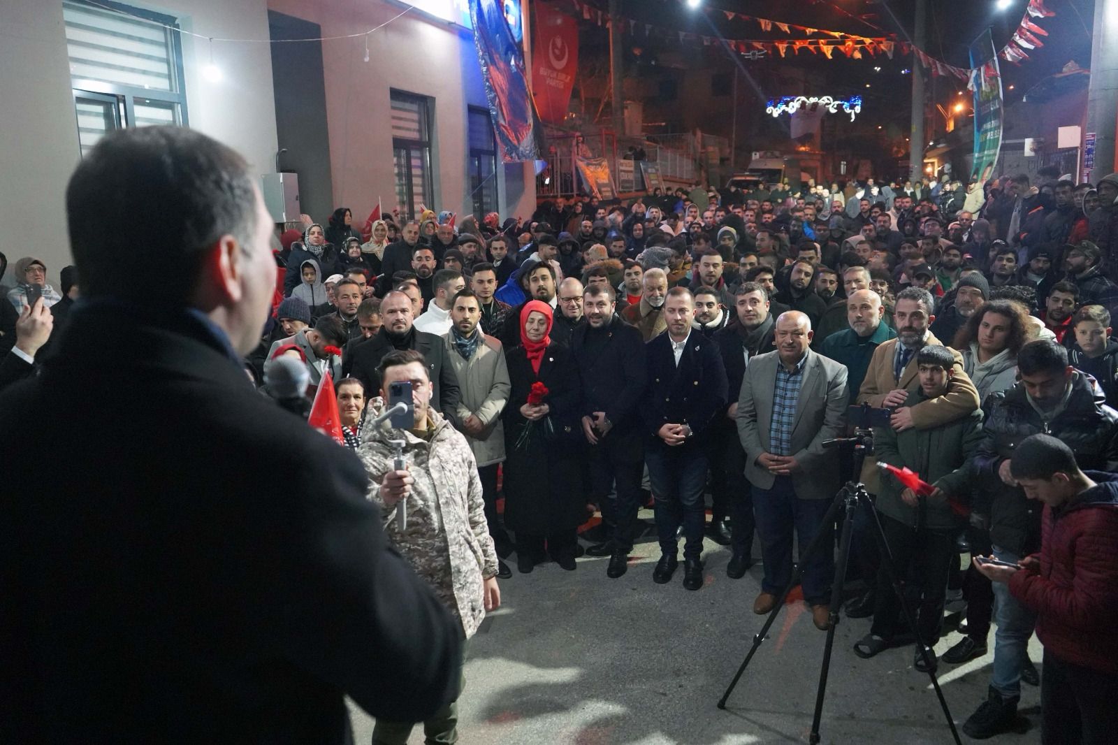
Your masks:
{"label": "navy jacket over open white shirt, left of man in gray blazer", "polygon": [[653,444],[666,446],[656,432],[669,423],[689,425],[690,444],[703,444],[714,417],[726,409],[726,368],[718,345],[692,330],[676,367],[671,336],[664,332],[645,345],[645,352],[648,386],[641,413]]}

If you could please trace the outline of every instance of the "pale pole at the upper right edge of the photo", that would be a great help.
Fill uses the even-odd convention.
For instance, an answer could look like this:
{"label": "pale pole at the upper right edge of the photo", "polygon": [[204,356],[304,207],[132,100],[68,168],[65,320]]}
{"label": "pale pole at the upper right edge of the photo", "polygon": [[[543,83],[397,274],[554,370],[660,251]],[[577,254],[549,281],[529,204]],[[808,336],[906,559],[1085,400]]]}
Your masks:
{"label": "pale pole at the upper right edge of the photo", "polygon": [[[1095,134],[1095,166],[1087,179],[1097,183],[1115,166],[1115,112],[1118,111],[1118,44],[1108,34],[1118,29],[1118,0],[1095,0],[1091,29],[1091,82],[1087,87],[1087,133]],[[1078,179],[1077,173],[1077,181]]]}

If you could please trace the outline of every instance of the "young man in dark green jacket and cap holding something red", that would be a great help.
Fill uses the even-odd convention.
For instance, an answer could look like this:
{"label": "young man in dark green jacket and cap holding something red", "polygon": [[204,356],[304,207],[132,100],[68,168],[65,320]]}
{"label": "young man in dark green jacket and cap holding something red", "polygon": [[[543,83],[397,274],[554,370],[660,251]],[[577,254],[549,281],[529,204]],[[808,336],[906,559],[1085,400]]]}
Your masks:
{"label": "young man in dark green jacket and cap holding something red", "polygon": [[[908,394],[906,405],[929,400],[947,393],[955,375],[955,355],[946,347],[929,345],[917,352],[920,387]],[[874,427],[875,458],[897,468],[908,466],[935,487],[928,497],[919,497],[891,475],[883,475],[877,510],[892,554],[893,574],[904,579],[915,569],[919,604],[916,624],[928,645],[928,658],[936,662],[931,648],[942,630],[947,576],[955,558],[958,520],[949,497],[966,490],[967,474],[960,468],[967,453],[982,441],[982,411],[975,408],[957,418],[923,430],[897,432]],[[916,593],[913,593],[916,594]],[[878,573],[877,604],[870,633],[854,644],[859,657],[873,657],[890,645],[898,632],[900,605],[884,570]],[[926,671],[919,648],[913,661]]]}

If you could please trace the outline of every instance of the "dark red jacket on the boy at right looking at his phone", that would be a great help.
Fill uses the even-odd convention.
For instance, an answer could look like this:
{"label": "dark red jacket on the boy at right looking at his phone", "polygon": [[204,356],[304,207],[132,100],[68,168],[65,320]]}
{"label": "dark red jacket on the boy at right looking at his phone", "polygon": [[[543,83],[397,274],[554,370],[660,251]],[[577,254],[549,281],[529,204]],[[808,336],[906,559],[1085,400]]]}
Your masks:
{"label": "dark red jacket on the boy at right looking at his phone", "polygon": [[1010,593],[1036,613],[1036,636],[1059,660],[1118,675],[1118,475],[1069,502],[1044,507],[1039,564],[1010,577]]}

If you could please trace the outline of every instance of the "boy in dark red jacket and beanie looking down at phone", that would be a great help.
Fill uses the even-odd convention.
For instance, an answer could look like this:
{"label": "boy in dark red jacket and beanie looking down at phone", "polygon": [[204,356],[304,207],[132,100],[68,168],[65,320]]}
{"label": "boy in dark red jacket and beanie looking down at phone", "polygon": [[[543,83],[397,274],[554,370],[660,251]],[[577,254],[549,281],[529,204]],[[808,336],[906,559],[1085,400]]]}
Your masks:
{"label": "boy in dark red jacket and beanie looking down at phone", "polygon": [[1079,470],[1071,449],[1050,435],[1026,437],[1010,473],[1044,503],[1041,553],[1017,567],[984,564],[1036,613],[1044,644],[1042,742],[1114,742],[1118,730],[1118,475]]}

